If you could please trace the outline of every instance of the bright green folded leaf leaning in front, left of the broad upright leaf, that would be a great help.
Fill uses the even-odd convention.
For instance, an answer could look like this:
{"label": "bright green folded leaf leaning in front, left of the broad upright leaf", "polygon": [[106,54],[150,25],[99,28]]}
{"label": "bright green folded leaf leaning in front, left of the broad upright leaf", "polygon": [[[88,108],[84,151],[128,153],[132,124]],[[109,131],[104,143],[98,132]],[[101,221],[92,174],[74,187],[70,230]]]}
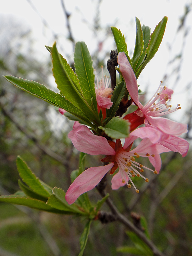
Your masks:
{"label": "bright green folded leaf leaning in front, left of the broad upright leaf", "polygon": [[98,114],[93,112],[87,104],[81,91],[79,80],[73,69],[67,63],[61,54],[57,51],[56,43],[52,47],[53,76],[61,94],[74,106],[80,108],[90,120],[99,119]]}

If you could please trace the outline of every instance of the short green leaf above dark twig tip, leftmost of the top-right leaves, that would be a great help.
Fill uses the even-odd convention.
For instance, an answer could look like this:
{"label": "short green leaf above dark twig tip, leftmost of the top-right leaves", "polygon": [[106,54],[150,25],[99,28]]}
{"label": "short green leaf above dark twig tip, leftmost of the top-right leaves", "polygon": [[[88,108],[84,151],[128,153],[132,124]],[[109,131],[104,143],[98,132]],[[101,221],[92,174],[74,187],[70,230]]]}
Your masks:
{"label": "short green leaf above dark twig tip, leftmost of the top-right leaves", "polygon": [[129,53],[127,51],[127,44],[125,42],[125,37],[122,35],[121,30],[115,27],[111,27],[111,31],[113,34],[113,37],[115,39],[116,47],[117,47],[117,52],[124,52],[125,55],[127,56],[127,59],[129,60],[129,63],[132,66],[131,59],[129,57]]}

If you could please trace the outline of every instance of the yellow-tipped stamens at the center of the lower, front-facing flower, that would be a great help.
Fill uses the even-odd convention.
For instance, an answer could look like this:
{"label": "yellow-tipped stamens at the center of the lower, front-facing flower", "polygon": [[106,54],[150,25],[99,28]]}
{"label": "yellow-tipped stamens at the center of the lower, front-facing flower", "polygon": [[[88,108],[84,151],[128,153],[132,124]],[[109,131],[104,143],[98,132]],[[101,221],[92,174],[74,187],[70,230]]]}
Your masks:
{"label": "yellow-tipped stamens at the center of the lower, front-facing flower", "polygon": [[[148,153],[146,154],[146,156],[155,156],[154,154],[149,155]],[[137,189],[132,181],[132,177],[142,177],[146,182],[148,182],[148,178],[145,178],[141,172],[144,172],[144,169],[150,170],[152,172],[154,172],[155,174],[157,174],[157,171],[153,171],[152,169],[139,164],[135,161],[135,157],[139,158],[139,155],[135,152],[135,153],[130,153],[130,152],[126,152],[124,150],[121,150],[120,152],[118,152],[116,154],[116,163],[118,164],[119,170],[121,172],[121,177],[122,177],[122,183],[127,183],[127,187],[131,188],[131,184],[132,186],[135,188],[135,191],[137,193],[139,193],[139,189]],[[143,169],[144,168],[144,169]],[[131,184],[128,183],[128,180],[130,180]]]}

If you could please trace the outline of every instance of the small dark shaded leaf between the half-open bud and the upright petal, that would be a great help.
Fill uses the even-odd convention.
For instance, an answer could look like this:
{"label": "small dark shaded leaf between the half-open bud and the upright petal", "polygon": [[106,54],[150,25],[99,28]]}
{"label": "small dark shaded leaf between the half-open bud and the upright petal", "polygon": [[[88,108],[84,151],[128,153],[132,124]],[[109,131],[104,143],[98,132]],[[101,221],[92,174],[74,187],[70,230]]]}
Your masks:
{"label": "small dark shaded leaf between the half-open bud and the upright petal", "polygon": [[111,96],[111,101],[113,102],[113,105],[111,106],[111,108],[106,109],[107,117],[109,117],[107,122],[109,122],[112,119],[112,117],[115,116],[116,111],[119,108],[120,101],[123,99],[125,95],[125,88],[126,84],[124,82],[120,82],[115,86],[113,95]]}

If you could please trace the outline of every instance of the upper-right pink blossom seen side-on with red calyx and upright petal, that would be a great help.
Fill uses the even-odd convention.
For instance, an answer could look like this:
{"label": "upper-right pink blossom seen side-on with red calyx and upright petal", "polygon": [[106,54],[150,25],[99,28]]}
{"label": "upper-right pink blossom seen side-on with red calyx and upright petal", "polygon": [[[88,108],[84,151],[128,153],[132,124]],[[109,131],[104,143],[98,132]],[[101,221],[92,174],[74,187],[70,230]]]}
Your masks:
{"label": "upper-right pink blossom seen side-on with red calyx and upright petal", "polygon": [[[187,124],[177,123],[168,118],[160,117],[180,109],[180,104],[178,104],[175,109],[171,109],[172,106],[168,104],[168,102],[171,100],[171,95],[173,93],[172,89],[168,89],[166,86],[162,86],[161,82],[156,93],[143,106],[139,101],[138,85],[134,71],[129,61],[127,60],[127,57],[124,52],[119,53],[118,64],[120,72],[124,77],[127,90],[135,105],[138,106],[138,109],[136,111],[124,116],[124,119],[129,120],[129,122],[131,123],[131,131],[136,129],[140,124],[145,124],[146,126],[153,126],[154,128],[161,131],[163,134],[176,137],[187,132]],[[174,140],[177,140],[178,143],[184,142],[183,139],[179,137],[174,137]],[[185,141],[185,144],[185,148],[186,150],[188,150],[188,142]],[[167,146],[169,145],[167,144]],[[179,149],[177,149],[177,151],[180,152]],[[183,153],[182,155],[186,155],[186,152]]]}

